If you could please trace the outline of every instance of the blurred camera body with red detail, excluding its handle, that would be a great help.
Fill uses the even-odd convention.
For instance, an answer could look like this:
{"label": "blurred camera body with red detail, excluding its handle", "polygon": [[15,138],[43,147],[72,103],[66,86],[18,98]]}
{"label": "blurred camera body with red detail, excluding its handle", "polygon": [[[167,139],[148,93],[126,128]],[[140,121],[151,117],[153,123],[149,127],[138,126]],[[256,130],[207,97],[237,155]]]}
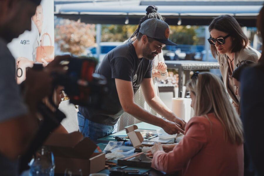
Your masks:
{"label": "blurred camera body with red detail, excluding its handle", "polygon": [[55,76],[54,82],[64,86],[70,103],[100,109],[108,88],[106,78],[94,73],[97,61],[93,57],[71,57],[62,65],[67,73]]}

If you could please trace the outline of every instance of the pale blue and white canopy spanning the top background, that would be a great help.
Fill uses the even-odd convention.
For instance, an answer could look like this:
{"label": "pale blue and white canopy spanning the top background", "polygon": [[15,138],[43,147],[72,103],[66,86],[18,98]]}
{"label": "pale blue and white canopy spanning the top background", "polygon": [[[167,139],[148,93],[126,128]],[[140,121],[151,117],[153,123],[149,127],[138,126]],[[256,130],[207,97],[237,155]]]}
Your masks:
{"label": "pale blue and white canopy spanning the top background", "polygon": [[[56,4],[55,16],[78,20],[84,23],[100,24],[138,24],[145,15],[146,1],[103,1],[75,4]],[[150,2],[149,2],[150,3]],[[155,4],[155,3],[154,3]],[[241,23],[241,26],[254,27],[261,5],[160,5],[158,12],[166,18],[169,25],[177,25],[179,18],[182,25],[209,25],[213,17],[230,14]]]}

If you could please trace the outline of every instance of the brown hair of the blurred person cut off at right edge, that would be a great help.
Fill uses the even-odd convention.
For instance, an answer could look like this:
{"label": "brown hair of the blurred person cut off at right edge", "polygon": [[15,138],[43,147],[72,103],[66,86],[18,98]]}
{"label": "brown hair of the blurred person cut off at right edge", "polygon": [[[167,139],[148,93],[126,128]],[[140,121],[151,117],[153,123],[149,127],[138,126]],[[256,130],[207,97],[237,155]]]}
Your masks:
{"label": "brown hair of the blurred person cut off at right edge", "polygon": [[262,54],[259,63],[264,64],[264,6],[261,8],[257,18],[258,35],[262,40]]}

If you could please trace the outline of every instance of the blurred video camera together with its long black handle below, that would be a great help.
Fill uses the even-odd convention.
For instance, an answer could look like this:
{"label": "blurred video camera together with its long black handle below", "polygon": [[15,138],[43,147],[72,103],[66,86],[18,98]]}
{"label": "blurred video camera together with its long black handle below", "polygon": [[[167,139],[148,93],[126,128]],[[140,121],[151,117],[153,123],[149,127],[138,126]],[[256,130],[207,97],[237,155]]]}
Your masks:
{"label": "blurred video camera together with its long black handle below", "polygon": [[[67,70],[66,74],[53,72],[54,88],[57,85],[64,86],[70,103],[86,106],[89,108],[103,109],[102,99],[108,92],[106,78],[94,74],[97,62],[93,58],[87,57],[70,57],[63,61],[62,65]],[[42,70],[41,64],[34,64],[33,70]],[[23,88],[23,85],[22,87]],[[55,91],[54,91],[55,92]],[[56,106],[56,95],[45,97],[38,104],[38,113],[43,116],[38,131],[33,138],[28,150],[19,159],[19,172],[28,169],[27,163],[31,160],[35,151],[48,138],[49,134],[60,125],[60,122],[66,117]]]}

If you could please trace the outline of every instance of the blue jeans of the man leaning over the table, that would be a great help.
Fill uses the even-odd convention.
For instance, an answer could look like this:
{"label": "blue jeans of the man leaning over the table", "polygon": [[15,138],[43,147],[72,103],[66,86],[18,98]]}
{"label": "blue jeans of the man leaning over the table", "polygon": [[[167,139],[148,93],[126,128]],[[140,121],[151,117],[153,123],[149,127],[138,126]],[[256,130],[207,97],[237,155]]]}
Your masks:
{"label": "blue jeans of the man leaning over the table", "polygon": [[84,137],[90,138],[92,141],[111,135],[117,132],[117,123],[114,126],[96,123],[86,119],[81,113],[77,113],[79,131]]}

